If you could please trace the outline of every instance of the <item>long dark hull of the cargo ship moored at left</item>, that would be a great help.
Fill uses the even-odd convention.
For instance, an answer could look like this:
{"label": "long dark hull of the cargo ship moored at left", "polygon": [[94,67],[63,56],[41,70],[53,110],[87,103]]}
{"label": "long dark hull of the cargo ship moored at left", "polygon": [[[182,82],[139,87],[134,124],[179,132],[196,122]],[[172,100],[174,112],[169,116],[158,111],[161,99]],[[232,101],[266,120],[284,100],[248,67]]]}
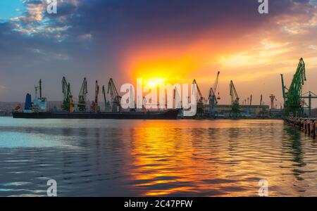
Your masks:
{"label": "long dark hull of the cargo ship moored at left", "polygon": [[176,120],[178,117],[177,109],[166,110],[162,112],[41,112],[41,113],[23,113],[13,112],[13,118],[25,119],[121,119],[121,120]]}

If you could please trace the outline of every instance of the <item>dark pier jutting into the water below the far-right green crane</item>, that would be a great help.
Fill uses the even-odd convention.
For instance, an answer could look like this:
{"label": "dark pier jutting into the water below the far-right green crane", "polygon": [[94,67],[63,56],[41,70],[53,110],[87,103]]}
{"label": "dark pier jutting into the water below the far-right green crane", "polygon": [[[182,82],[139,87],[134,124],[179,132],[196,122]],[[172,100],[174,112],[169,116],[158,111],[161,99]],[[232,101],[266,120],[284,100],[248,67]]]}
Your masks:
{"label": "dark pier jutting into the water below the far-right green crane", "polygon": [[285,121],[294,125],[294,127],[301,130],[305,134],[308,134],[313,139],[316,139],[316,119],[288,117],[285,119]]}

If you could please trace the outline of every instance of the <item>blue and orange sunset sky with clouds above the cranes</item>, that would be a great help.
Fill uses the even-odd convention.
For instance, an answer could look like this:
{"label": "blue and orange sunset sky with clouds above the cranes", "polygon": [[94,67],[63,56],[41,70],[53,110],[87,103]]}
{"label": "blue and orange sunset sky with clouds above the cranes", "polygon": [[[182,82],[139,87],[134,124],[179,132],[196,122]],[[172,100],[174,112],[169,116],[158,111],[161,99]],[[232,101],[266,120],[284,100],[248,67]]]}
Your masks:
{"label": "blue and orange sunset sky with clouds above the cranes", "polygon": [[[170,83],[197,80],[207,98],[218,70],[219,103],[230,103],[232,79],[241,101],[252,94],[280,106],[280,74],[290,85],[299,58],[304,91],[317,94],[317,1],[63,0],[0,1],[0,101],[24,101],[39,79],[49,101],[62,101],[61,79],[77,96],[87,77],[117,89],[137,77]],[[316,102],[317,106],[317,102]]]}

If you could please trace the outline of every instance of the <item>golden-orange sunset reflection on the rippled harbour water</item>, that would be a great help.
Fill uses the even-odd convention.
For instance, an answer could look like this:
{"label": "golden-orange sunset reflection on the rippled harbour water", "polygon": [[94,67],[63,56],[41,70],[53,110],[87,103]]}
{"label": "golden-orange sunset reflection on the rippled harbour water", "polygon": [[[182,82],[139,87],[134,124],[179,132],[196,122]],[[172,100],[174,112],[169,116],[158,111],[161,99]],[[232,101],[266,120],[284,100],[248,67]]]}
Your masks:
{"label": "golden-orange sunset reflection on the rippled harbour water", "polygon": [[305,137],[279,120],[141,121],[132,134],[141,196],[258,196],[260,179],[270,196],[297,196],[313,183],[299,179]]}

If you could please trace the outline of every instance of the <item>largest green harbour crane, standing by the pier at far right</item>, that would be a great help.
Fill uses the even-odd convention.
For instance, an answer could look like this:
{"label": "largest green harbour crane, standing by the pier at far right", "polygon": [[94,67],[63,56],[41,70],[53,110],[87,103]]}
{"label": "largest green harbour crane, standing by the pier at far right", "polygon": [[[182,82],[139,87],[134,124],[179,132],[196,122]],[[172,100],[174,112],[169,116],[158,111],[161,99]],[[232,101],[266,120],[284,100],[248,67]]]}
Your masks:
{"label": "largest green harbour crane, standing by the pier at far right", "polygon": [[282,79],[282,95],[284,99],[285,115],[293,117],[302,117],[304,108],[302,106],[302,91],[303,85],[306,81],[305,63],[303,58],[300,58],[297,70],[292,79],[290,88],[287,89],[284,84],[283,75]]}

